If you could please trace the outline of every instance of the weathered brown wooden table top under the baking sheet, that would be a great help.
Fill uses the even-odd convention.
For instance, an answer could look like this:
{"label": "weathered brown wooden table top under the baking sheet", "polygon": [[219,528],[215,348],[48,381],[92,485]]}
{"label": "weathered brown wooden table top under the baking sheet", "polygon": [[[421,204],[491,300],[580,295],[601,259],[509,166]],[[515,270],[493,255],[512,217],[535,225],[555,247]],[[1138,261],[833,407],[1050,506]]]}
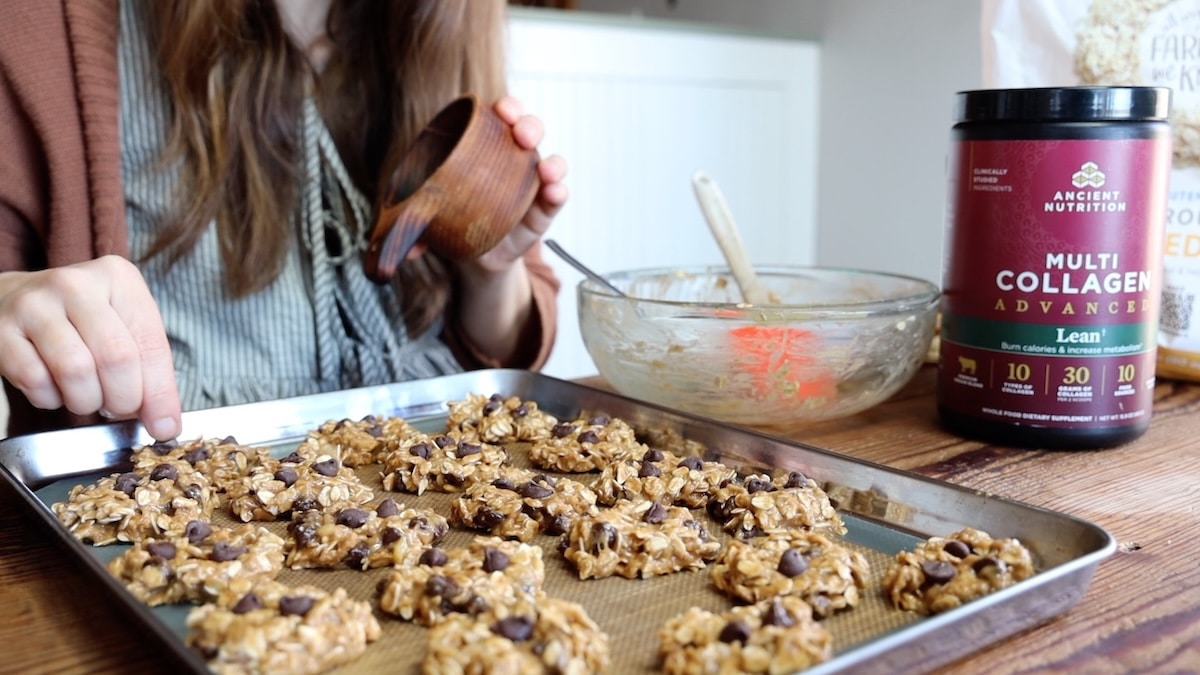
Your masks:
{"label": "weathered brown wooden table top under the baking sheet", "polygon": [[[940,673],[1200,671],[1200,386],[1162,381],[1141,438],[1108,450],[988,446],[937,425],[935,370],[798,440],[1090,520],[1116,537],[1070,611]],[[158,673],[149,638],[0,482],[0,671]]]}

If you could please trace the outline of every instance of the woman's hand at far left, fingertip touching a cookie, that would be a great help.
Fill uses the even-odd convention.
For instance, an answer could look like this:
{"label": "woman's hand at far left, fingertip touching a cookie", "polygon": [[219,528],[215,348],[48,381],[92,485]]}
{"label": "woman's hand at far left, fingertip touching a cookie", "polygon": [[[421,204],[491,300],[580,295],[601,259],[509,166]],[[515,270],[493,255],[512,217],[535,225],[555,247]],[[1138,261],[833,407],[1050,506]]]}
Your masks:
{"label": "woman's hand at far left, fingertip touching a cookie", "polygon": [[0,274],[0,377],[40,408],[180,434],[170,345],[142,273],[119,256]]}

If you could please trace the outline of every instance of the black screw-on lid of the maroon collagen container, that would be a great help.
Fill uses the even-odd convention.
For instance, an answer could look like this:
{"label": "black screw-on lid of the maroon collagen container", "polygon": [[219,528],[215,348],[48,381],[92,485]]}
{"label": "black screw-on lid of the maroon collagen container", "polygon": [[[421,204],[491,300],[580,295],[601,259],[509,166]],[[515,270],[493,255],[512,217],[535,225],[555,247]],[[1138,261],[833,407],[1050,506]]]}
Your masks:
{"label": "black screw-on lid of the maroon collagen container", "polygon": [[1165,86],[1046,86],[959,91],[956,121],[1166,120]]}

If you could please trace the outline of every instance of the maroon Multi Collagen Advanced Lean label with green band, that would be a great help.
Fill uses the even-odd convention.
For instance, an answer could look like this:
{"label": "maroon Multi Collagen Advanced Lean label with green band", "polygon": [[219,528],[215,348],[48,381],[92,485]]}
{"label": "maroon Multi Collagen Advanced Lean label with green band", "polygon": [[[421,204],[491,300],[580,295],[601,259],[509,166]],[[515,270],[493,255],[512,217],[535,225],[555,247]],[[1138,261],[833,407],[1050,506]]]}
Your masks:
{"label": "maroon Multi Collagen Advanced Lean label with green band", "polygon": [[1169,155],[1162,139],[955,144],[940,406],[1057,429],[1148,419]]}

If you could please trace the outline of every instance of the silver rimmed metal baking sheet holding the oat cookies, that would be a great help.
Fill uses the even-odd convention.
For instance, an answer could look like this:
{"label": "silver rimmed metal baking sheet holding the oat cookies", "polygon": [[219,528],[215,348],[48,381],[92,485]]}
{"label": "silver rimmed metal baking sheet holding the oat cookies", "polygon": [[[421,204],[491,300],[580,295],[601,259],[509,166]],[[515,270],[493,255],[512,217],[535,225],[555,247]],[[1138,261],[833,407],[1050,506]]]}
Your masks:
{"label": "silver rimmed metal baking sheet holding the oat cookies", "polygon": [[[845,540],[865,551],[871,560],[872,584],[864,593],[864,605],[874,603],[875,609],[860,605],[827,619],[826,623],[834,634],[834,658],[805,673],[922,671],[949,663],[1069,609],[1086,592],[1097,565],[1116,550],[1116,542],[1106,531],[1063,513],[523,370],[473,371],[384,387],[188,412],[184,416],[180,438],[232,435],[242,444],[271,446],[286,454],[307,431],[326,420],[359,419],[367,414],[403,417],[433,431],[444,424],[445,404],[463,400],[469,393],[502,393],[533,400],[559,418],[571,418],[580,411],[602,411],[620,417],[635,429],[677,431],[688,440],[703,443],[712,455],[709,459],[719,459],[733,466],[799,470],[820,480],[846,521],[848,532]],[[125,592],[104,568],[104,563],[119,554],[122,546],[94,548],[80,543],[59,524],[49,508],[54,501],[65,497],[71,485],[90,483],[127,466],[130,449],[149,442],[151,438],[133,423],[7,438],[0,441],[0,474],[12,483],[64,545],[88,566],[97,583],[112,591],[115,602],[162,641],[170,656],[181,665],[203,673],[203,661],[184,641],[184,617],[188,608],[144,607]],[[403,496],[407,503],[420,506],[414,504],[413,496]],[[1033,551],[1038,574],[931,617],[884,608],[877,587],[882,575],[880,567],[886,566],[887,560],[899,550],[911,548],[920,539],[946,536],[962,527],[984,530],[994,537],[1020,539]],[[547,551],[552,550],[552,546],[547,548]],[[547,567],[551,567],[550,562]],[[286,574],[288,572],[284,571]],[[564,569],[562,574],[569,572]],[[367,573],[344,571],[341,574]],[[715,592],[704,587],[707,573],[684,574],[695,575],[700,581],[695,581],[691,590],[684,591],[678,580],[590,580],[563,587],[582,589],[580,597],[569,599],[583,602],[589,613],[593,611],[590,601],[616,605],[599,608],[610,614],[628,614],[630,602],[654,610],[634,613],[630,616],[635,619],[631,620],[618,615],[607,626],[598,619],[602,628],[624,631],[613,635],[613,652],[614,657],[619,652],[626,655],[620,658],[631,661],[618,659],[613,671],[650,671],[654,668],[653,646],[638,645],[642,652],[648,651],[641,653],[622,640],[652,643],[658,622],[674,611],[670,602],[688,603],[700,598],[698,604],[707,602],[714,609],[719,609],[720,602],[727,603],[714,602],[708,597],[715,597]],[[876,619],[871,619],[872,613]],[[385,625],[386,631],[389,623],[402,622],[382,616],[380,623]],[[408,633],[394,641],[400,640],[404,645],[403,651],[412,659],[412,668],[407,671],[416,671],[424,646],[412,643],[420,639],[424,629],[413,625],[406,625],[402,629]],[[372,649],[374,645],[368,646],[368,655]],[[630,653],[637,656],[628,656]],[[396,664],[395,661],[390,663]],[[340,671],[370,669],[355,662]]]}

